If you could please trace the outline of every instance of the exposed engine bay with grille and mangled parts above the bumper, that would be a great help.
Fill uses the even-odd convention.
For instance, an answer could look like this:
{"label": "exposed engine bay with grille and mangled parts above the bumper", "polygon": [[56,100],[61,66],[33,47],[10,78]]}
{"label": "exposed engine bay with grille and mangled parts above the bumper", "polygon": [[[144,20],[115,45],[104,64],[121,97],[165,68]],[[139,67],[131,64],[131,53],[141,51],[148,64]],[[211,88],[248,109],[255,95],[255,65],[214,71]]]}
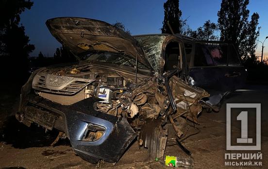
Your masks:
{"label": "exposed engine bay with grille and mangled parts above the bumper", "polygon": [[[133,79],[116,71],[94,67],[50,73],[39,72],[33,79],[33,89],[39,96],[62,105],[96,97],[101,99],[95,104],[96,110],[128,118],[132,126],[142,125],[142,121],[157,118],[159,114],[163,116],[168,109],[168,93],[165,85],[157,82],[159,79],[143,79],[134,84]],[[189,111],[184,116],[197,122],[197,115],[201,112],[199,101],[208,94],[176,76],[169,80],[169,85],[173,88],[172,95],[177,105],[176,115]]]}

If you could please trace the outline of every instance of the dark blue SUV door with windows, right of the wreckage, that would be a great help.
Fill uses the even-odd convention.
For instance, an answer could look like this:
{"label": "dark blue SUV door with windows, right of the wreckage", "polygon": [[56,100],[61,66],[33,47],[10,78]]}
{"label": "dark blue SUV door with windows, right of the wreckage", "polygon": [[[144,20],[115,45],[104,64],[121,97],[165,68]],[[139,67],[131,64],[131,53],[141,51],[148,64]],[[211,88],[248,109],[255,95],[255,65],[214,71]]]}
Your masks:
{"label": "dark blue SUV door with windows, right of the wreckage", "polygon": [[210,93],[209,103],[217,105],[229,91],[241,88],[245,71],[234,46],[220,42],[196,42],[192,50],[189,82]]}

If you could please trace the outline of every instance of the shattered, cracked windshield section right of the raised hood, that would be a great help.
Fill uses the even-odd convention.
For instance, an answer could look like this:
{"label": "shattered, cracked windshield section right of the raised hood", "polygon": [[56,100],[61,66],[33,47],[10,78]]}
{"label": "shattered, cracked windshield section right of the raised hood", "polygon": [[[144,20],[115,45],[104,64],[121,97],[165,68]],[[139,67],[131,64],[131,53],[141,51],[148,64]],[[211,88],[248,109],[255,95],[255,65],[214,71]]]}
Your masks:
{"label": "shattered, cracked windshield section right of the raised hood", "polygon": [[146,53],[154,71],[158,72],[161,61],[162,45],[166,36],[145,35],[145,36],[134,36],[134,38],[139,42],[142,49]]}

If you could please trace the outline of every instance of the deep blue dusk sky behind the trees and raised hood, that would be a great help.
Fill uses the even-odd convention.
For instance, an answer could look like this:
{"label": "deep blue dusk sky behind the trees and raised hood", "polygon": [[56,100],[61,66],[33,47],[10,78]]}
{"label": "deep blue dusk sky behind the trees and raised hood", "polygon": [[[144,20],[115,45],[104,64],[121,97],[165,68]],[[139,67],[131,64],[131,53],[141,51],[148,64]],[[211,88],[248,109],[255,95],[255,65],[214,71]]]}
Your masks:
{"label": "deep blue dusk sky behind the trees and raised hood", "polygon": [[[163,3],[166,0],[32,0],[33,7],[21,15],[21,23],[30,36],[35,50],[31,56],[42,51],[53,56],[61,44],[54,39],[45,22],[53,17],[87,17],[103,20],[110,24],[122,22],[135,34],[159,34],[164,19]],[[183,19],[193,30],[210,19],[217,23],[217,13],[221,0],[180,0]],[[268,0],[250,0],[248,9],[260,15],[260,41],[268,36]],[[264,55],[268,55],[268,40],[265,41]],[[261,55],[261,43],[258,43],[256,55]]]}

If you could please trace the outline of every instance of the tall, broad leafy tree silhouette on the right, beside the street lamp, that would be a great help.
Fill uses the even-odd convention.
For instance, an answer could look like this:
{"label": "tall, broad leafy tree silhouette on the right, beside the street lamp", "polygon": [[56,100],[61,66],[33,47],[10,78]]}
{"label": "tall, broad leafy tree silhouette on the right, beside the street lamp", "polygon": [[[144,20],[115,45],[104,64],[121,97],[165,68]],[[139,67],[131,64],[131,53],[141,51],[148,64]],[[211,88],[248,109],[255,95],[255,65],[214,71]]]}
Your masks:
{"label": "tall, broad leafy tree silhouette on the right, beside the street lamp", "polygon": [[[218,11],[220,40],[231,42],[238,49],[240,56],[247,57],[255,46],[258,36],[258,14],[254,13],[249,23],[249,0],[222,0]],[[251,24],[251,25],[250,25]],[[253,37],[253,38],[252,38]],[[250,40],[250,43],[248,43]]]}

